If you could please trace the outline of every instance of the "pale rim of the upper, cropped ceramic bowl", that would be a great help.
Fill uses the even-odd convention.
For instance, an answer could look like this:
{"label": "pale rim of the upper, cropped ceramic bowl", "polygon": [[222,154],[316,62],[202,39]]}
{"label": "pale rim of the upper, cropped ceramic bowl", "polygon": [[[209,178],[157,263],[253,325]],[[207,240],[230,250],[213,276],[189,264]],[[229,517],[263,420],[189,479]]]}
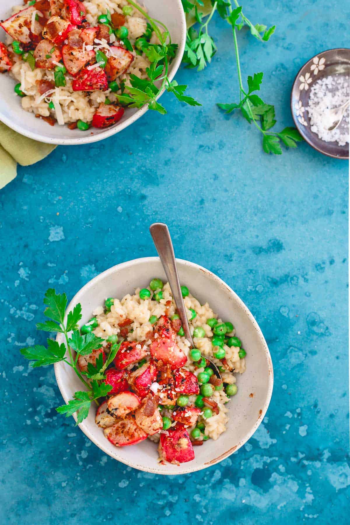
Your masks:
{"label": "pale rim of the upper, cropped ceramic bowl", "polygon": [[[169,72],[169,80],[172,81],[173,78],[176,75],[176,71],[178,70],[182,56],[184,54],[185,44],[186,44],[186,18],[184,9],[182,7],[181,0],[176,0],[178,4],[178,10],[179,10],[179,22],[181,23],[181,41],[178,43],[177,53],[172,61],[172,69]],[[160,98],[165,91],[165,88],[162,89],[162,91],[159,93],[159,95],[156,97],[156,99]],[[37,140],[39,142],[44,142],[45,144],[56,144],[56,145],[62,145],[62,146],[68,146],[68,145],[79,145],[79,144],[90,144],[92,142],[98,142],[103,139],[107,139],[108,137],[111,137],[115,133],[119,133],[119,131],[122,131],[123,129],[130,126],[130,124],[133,124],[136,120],[138,120],[142,115],[145,114],[146,111],[148,111],[148,106],[143,106],[139,111],[136,111],[131,117],[126,119],[121,124],[115,124],[111,128],[107,128],[102,133],[99,133],[97,135],[89,135],[89,137],[81,137],[81,138],[75,138],[75,139],[69,139],[69,138],[62,138],[62,139],[50,139],[48,137],[44,137],[43,135],[40,135],[38,133],[30,133],[29,131],[24,131],[23,128],[17,124],[16,122],[13,122],[12,120],[1,116],[0,120],[6,124],[9,128],[13,129],[14,131],[17,131],[17,133],[20,133],[21,135],[24,135],[24,137],[28,137],[29,139]],[[23,110],[24,111],[24,110]]]}

